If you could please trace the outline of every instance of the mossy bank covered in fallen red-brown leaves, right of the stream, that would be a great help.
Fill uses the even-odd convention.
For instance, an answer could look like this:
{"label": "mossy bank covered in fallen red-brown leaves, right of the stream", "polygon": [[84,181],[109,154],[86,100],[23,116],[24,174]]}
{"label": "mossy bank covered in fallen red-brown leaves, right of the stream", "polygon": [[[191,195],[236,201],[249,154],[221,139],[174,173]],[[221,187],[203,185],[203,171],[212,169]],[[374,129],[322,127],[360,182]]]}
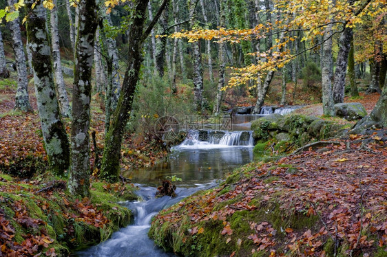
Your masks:
{"label": "mossy bank covered in fallen red-brown leaves, right of the stream", "polygon": [[386,131],[330,141],[238,168],[149,236],[183,256],[386,256]]}

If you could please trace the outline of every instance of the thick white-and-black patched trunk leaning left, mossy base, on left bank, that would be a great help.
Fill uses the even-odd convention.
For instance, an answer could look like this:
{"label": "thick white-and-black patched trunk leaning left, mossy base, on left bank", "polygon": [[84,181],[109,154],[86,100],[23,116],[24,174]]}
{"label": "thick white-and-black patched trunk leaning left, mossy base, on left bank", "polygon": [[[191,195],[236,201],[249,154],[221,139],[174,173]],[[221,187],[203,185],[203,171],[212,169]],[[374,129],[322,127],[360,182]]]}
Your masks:
{"label": "thick white-and-black patched trunk leaning left, mossy base, on left bank", "polygon": [[63,174],[70,164],[70,146],[61,120],[56,98],[48,33],[45,27],[45,8],[41,1],[32,9],[34,0],[25,1],[28,42],[32,52],[36,102],[48,162],[56,174]]}

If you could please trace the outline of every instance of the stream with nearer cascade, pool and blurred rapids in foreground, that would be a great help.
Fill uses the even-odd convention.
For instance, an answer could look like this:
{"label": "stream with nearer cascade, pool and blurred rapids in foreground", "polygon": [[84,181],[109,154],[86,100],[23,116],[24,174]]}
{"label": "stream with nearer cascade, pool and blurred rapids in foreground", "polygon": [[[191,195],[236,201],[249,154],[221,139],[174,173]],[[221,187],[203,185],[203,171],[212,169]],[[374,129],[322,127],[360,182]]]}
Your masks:
{"label": "stream with nearer cascade, pool and blurred rapids in foreground", "polygon": [[[132,210],[134,223],[115,232],[109,240],[76,253],[76,256],[174,256],[165,253],[148,238],[151,218],[198,190],[216,186],[218,179],[252,160],[251,131],[191,131],[182,144],[172,148],[165,163],[125,174],[140,188],[136,192],[139,201],[122,203]],[[177,197],[156,199],[156,187],[167,176],[182,179],[176,183]]]}

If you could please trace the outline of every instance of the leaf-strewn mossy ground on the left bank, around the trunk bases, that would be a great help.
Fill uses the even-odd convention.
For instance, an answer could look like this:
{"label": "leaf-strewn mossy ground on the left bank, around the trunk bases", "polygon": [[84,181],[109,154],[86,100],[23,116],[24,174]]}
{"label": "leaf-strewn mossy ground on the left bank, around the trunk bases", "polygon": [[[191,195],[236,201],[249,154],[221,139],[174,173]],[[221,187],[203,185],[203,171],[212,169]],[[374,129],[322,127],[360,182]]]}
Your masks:
{"label": "leaf-strewn mossy ground on the left bank, around the trunk bases", "polygon": [[[71,78],[66,81],[71,92]],[[70,249],[100,243],[128,225],[132,213],[118,201],[136,199],[136,188],[129,182],[98,180],[92,142],[90,198],[76,199],[66,190],[66,177],[45,172],[48,161],[33,88],[30,82],[34,113],[22,113],[14,111],[16,73],[0,80],[0,256],[68,256]],[[91,129],[101,159],[105,119],[98,100],[93,97]],[[70,134],[70,119],[64,122]],[[167,151],[128,135],[122,154],[121,165],[129,169],[151,166]]]}

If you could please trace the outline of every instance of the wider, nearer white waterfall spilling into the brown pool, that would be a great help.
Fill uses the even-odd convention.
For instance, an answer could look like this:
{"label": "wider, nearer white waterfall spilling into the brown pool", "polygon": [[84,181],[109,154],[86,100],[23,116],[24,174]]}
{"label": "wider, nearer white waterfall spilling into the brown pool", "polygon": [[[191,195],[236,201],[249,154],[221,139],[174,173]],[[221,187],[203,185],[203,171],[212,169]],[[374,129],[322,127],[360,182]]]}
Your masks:
{"label": "wider, nearer white waterfall spilling into the brown pool", "polygon": [[185,140],[177,147],[203,146],[253,146],[253,131],[189,131]]}

